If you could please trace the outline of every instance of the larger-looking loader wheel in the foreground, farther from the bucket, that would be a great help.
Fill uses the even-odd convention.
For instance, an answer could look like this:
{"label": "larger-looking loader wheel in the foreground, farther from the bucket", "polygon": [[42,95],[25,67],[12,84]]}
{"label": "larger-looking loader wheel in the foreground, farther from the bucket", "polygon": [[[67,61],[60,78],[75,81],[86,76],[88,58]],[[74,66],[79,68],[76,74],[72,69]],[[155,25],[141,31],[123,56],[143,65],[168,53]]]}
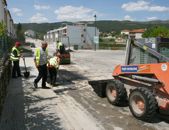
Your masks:
{"label": "larger-looking loader wheel in the foreground, farther from the bucket", "polygon": [[129,108],[134,117],[151,122],[158,110],[153,92],[147,88],[136,88],[130,92]]}

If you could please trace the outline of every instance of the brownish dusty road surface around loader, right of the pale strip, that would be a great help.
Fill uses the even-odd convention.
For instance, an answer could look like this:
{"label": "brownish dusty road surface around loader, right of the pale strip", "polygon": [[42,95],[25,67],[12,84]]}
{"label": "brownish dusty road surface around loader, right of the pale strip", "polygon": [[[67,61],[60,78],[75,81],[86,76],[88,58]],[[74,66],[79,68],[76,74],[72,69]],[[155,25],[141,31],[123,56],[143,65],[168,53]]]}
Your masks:
{"label": "brownish dusty road surface around loader, right of the pale strip", "polygon": [[[65,80],[75,86],[68,95],[81,104],[106,130],[167,130],[167,120],[157,117],[154,123],[135,119],[128,106],[116,107],[100,98],[88,84],[88,80],[111,79],[118,64],[124,64],[124,51],[76,51],[71,53],[72,64],[63,66]],[[61,76],[64,73],[60,73]],[[62,79],[64,79],[62,78]],[[168,116],[166,116],[168,118]]]}

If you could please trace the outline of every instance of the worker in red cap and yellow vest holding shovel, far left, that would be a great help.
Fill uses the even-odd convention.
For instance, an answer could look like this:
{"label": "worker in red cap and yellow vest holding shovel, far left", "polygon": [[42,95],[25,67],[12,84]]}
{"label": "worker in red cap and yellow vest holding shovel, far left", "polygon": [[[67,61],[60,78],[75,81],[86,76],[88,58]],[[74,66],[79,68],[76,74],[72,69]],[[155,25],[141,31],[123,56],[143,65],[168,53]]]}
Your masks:
{"label": "worker in red cap and yellow vest holding shovel, far left", "polygon": [[20,71],[20,66],[19,66],[19,60],[21,57],[20,53],[20,42],[15,42],[15,46],[11,50],[11,55],[10,55],[10,60],[13,63],[13,68],[12,68],[12,78],[17,78],[21,77],[21,71]]}

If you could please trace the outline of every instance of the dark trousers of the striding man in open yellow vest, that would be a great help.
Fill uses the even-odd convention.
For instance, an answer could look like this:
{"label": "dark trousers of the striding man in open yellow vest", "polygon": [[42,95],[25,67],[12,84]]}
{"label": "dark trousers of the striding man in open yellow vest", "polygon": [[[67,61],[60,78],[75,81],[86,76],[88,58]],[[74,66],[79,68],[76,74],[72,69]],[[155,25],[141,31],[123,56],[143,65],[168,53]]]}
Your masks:
{"label": "dark trousers of the striding man in open yellow vest", "polygon": [[46,87],[46,81],[47,81],[47,66],[40,65],[38,67],[39,74],[35,79],[35,83],[38,83],[42,79],[42,87]]}

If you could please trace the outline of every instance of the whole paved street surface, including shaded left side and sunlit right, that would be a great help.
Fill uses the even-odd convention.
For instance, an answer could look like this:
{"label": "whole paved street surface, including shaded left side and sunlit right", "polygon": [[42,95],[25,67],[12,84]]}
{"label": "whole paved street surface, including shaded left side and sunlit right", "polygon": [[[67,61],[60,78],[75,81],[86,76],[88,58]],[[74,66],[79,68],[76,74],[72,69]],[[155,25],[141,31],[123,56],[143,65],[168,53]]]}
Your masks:
{"label": "whole paved street surface, including shaded left side and sunlit right", "polygon": [[[49,50],[52,49],[49,47]],[[52,54],[52,51],[51,51]],[[111,79],[112,71],[124,63],[124,51],[78,50],[71,64],[61,65],[57,86],[33,86],[38,71],[33,57],[26,57],[30,77],[12,79],[2,112],[2,130],[168,130],[166,120],[153,123],[135,119],[128,106],[116,107],[100,98],[89,80]],[[21,68],[24,72],[23,61]],[[168,117],[167,117],[168,118]]]}

